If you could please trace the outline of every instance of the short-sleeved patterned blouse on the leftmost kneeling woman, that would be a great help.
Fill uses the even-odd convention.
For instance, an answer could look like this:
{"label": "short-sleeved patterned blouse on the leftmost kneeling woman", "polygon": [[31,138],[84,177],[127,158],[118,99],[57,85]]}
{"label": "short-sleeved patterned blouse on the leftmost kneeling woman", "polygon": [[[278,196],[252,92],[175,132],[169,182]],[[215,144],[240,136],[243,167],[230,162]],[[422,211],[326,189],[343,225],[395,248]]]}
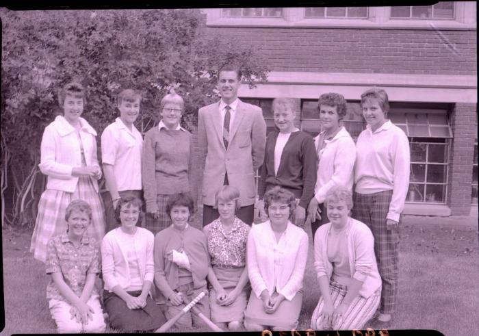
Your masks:
{"label": "short-sleeved patterned blouse on the leftmost kneeling woman", "polygon": [[[65,283],[77,296],[81,296],[87,274],[100,272],[99,248],[94,238],[83,235],[76,248],[67,233],[51,238],[47,246],[47,274],[62,273]],[[93,289],[95,291],[96,289]],[[47,299],[66,301],[51,279],[47,286]]]}

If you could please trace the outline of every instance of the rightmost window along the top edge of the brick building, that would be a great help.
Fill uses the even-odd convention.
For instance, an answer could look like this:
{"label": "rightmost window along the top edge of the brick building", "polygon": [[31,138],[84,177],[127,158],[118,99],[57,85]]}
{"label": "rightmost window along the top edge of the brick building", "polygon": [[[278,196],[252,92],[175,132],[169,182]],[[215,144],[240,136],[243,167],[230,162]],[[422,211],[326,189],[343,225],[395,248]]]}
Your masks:
{"label": "rightmost window along the top edge of the brick building", "polygon": [[442,1],[428,6],[394,6],[391,18],[445,18],[454,19],[454,1]]}

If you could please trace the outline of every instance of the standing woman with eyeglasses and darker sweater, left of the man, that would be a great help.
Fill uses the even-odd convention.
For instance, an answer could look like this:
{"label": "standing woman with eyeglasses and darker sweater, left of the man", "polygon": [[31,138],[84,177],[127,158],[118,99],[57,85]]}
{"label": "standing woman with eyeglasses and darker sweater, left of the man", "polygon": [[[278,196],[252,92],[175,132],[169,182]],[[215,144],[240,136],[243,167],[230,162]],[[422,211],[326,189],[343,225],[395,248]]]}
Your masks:
{"label": "standing woman with eyeglasses and darker sweater, left of the man", "polygon": [[171,224],[168,198],[190,192],[192,135],[180,126],[183,98],[170,92],[161,99],[158,125],[146,132],[143,142],[142,181],[146,203],[146,229],[156,235]]}

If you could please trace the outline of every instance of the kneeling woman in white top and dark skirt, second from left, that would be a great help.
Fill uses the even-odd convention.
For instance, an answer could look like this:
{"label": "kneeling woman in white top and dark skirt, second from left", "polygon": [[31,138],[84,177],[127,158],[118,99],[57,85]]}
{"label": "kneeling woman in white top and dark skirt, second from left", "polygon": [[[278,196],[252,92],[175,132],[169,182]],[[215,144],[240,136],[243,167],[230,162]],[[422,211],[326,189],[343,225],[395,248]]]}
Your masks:
{"label": "kneeling woman in white top and dark skirt, second from left", "polygon": [[166,322],[150,294],[155,237],[136,226],[141,208],[142,201],[134,196],[120,198],[115,211],[121,225],[101,244],[105,310],[110,326],[121,331],[153,331]]}

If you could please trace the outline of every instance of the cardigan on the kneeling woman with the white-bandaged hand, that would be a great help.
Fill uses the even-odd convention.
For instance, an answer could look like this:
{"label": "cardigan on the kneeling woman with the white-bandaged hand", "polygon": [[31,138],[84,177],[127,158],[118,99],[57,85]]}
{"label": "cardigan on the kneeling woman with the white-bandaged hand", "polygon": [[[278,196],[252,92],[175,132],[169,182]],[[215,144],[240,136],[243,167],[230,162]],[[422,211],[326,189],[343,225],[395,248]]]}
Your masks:
{"label": "cardigan on the kneeling woman with the white-bandaged hand", "polygon": [[206,237],[200,230],[188,225],[183,231],[174,229],[172,225],[159,231],[155,237],[155,284],[164,298],[159,298],[159,303],[165,302],[179,286],[179,267],[176,263],[166,259],[170,250],[183,248],[188,260],[193,278],[194,289],[206,286],[206,276],[209,269],[209,253]]}

